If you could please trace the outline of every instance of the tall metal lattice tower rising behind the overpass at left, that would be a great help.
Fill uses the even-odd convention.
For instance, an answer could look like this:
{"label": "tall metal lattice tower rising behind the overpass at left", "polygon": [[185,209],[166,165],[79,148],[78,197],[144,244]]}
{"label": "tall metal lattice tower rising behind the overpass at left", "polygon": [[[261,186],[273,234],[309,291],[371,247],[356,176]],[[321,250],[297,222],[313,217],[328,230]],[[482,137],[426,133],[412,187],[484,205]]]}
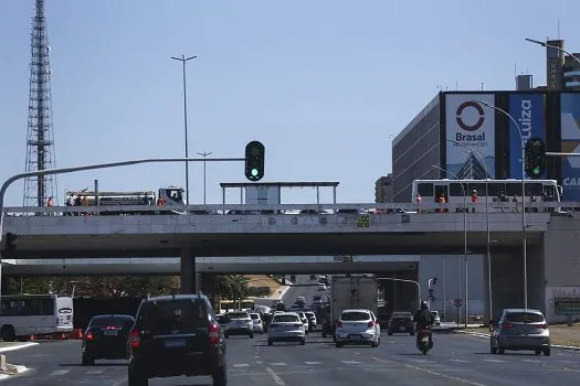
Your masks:
{"label": "tall metal lattice tower rising behind the overpass at left", "polygon": [[[27,171],[53,169],[55,164],[54,135],[52,130],[51,64],[44,0],[36,1],[32,18],[30,63],[29,121],[27,137]],[[53,197],[56,205],[56,178],[40,175],[24,181],[24,206],[45,206]]]}

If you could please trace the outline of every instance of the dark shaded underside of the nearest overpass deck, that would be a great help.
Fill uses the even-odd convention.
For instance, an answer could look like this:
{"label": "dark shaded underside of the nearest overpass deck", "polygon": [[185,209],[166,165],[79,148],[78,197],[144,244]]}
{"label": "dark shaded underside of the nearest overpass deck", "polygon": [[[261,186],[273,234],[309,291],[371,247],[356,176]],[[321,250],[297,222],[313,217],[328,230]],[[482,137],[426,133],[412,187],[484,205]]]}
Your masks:
{"label": "dark shaded underside of the nearest overpass deck", "polygon": [[[527,233],[528,245],[542,233]],[[492,234],[494,248],[521,245],[520,234]],[[486,233],[470,233],[471,253],[485,253]],[[44,237],[19,239],[6,258],[175,257],[183,248],[198,256],[312,256],[312,255],[441,255],[463,254],[464,235],[450,233],[365,234],[245,234],[245,235],[71,235],[66,243]]]}

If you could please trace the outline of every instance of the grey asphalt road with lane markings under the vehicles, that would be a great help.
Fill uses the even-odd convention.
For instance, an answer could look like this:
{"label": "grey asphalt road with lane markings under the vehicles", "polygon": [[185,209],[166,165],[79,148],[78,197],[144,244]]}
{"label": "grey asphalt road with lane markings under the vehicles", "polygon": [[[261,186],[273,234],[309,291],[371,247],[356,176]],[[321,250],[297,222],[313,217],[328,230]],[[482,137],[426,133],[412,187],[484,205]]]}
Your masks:
{"label": "grey asphalt road with lane markings under the vehicles", "polygon": [[[297,278],[300,283],[304,279]],[[306,277],[308,279],[308,277]],[[309,279],[307,280],[309,281]],[[291,292],[292,291],[292,292]],[[312,297],[316,288],[295,287],[285,302]],[[308,298],[307,298],[308,299]],[[434,349],[421,355],[414,336],[382,334],[381,345],[336,349],[331,339],[309,334],[306,345],[277,343],[265,335],[228,341],[229,384],[232,386],[418,385],[545,386],[580,380],[580,352],[552,350],[549,357],[532,353],[489,354],[487,340],[464,334],[435,333]],[[126,386],[127,367],[120,362],[97,362],[83,367],[81,342],[64,341],[7,353],[8,362],[31,371],[6,380],[9,385]],[[209,378],[151,379],[150,385],[211,385]]]}

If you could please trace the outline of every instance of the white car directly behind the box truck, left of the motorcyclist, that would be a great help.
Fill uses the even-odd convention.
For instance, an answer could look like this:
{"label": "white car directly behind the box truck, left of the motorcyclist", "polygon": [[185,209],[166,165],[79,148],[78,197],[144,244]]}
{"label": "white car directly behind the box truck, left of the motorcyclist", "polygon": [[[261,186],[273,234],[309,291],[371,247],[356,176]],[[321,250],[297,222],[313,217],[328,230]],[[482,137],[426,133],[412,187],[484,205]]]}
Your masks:
{"label": "white car directly behind the box truck, left of the motorcyclist", "polygon": [[344,310],[336,322],[336,346],[345,344],[370,344],[378,347],[381,343],[381,328],[370,310]]}

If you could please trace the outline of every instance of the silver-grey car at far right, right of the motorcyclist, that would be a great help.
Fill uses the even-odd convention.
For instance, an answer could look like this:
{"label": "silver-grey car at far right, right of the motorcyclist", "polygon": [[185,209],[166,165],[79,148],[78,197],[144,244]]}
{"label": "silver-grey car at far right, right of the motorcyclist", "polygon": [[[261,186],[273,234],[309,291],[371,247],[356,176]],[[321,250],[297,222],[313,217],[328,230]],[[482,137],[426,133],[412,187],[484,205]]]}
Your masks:
{"label": "silver-grey car at far right, right of the motorcyclist", "polygon": [[541,311],[506,309],[499,320],[489,323],[492,354],[506,350],[529,350],[536,355],[550,355],[550,330]]}

